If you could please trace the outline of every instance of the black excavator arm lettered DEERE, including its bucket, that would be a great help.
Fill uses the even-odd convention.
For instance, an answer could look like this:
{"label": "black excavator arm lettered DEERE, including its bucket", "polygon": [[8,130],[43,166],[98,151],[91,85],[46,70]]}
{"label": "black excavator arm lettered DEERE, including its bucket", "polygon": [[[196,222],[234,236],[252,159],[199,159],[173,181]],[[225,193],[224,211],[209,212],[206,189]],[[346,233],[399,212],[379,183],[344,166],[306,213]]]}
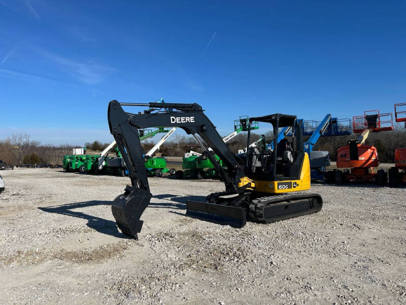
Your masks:
{"label": "black excavator arm lettered DEERE, including its bucket", "polygon": [[[121,106],[147,106],[149,109],[144,113],[134,114],[125,112]],[[208,158],[224,180],[226,191],[235,193],[244,191],[238,188],[240,177],[244,176],[243,162],[232,154],[203,111],[198,104],[120,104],[116,100],[109,103],[110,132],[117,142],[131,179],[131,186],[127,186],[125,193],[118,196],[112,204],[113,216],[124,234],[138,238],[137,234],[143,224],[140,220],[141,215],[152,197],[138,132],[141,128],[154,126],[181,128],[187,134],[193,135],[202,148],[208,151],[205,144],[196,137],[198,134],[227,166],[227,171],[224,171],[214,154],[208,153]]]}

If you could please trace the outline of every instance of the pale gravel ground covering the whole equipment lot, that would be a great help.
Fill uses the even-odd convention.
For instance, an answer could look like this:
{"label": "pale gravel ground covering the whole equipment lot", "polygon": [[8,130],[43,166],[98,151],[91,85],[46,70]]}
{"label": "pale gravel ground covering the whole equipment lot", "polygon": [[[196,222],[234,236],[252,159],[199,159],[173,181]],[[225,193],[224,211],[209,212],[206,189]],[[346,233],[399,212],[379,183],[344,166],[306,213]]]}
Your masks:
{"label": "pale gravel ground covering the whole equipment lot", "polygon": [[321,212],[233,229],[187,218],[219,181],[151,178],[140,240],[126,177],[2,171],[1,304],[405,304],[406,189],[316,184]]}

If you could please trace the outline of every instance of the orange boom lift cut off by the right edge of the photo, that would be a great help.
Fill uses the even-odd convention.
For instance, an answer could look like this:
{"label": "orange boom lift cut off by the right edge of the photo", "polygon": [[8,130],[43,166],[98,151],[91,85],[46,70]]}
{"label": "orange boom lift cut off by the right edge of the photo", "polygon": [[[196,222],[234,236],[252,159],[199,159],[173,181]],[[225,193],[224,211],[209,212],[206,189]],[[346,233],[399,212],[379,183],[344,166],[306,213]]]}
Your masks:
{"label": "orange boom lift cut off by the right edge of the photo", "polygon": [[[395,104],[395,120],[404,122],[406,128],[406,103]],[[406,147],[395,150],[395,166],[389,169],[390,187],[396,187],[402,181],[406,181]]]}

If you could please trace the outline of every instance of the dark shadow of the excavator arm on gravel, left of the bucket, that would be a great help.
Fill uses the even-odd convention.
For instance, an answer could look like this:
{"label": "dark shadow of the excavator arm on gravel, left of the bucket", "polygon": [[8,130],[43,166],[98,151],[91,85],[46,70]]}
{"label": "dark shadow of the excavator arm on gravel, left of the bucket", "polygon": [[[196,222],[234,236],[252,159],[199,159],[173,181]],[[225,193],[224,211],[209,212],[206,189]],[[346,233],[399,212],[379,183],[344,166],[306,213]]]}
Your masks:
{"label": "dark shadow of the excavator arm on gravel, left of the bucket", "polygon": [[106,220],[103,218],[91,216],[85,214],[83,212],[74,211],[73,209],[82,208],[87,206],[95,206],[95,205],[111,205],[112,201],[99,201],[99,200],[91,200],[91,201],[84,201],[84,202],[76,202],[70,204],[63,204],[63,205],[56,205],[56,206],[49,206],[49,207],[38,207],[40,210],[48,212],[48,213],[55,213],[61,215],[67,215],[77,218],[82,218],[87,220],[87,226],[96,230],[97,232],[125,238],[124,235],[118,231],[117,225],[114,221]]}

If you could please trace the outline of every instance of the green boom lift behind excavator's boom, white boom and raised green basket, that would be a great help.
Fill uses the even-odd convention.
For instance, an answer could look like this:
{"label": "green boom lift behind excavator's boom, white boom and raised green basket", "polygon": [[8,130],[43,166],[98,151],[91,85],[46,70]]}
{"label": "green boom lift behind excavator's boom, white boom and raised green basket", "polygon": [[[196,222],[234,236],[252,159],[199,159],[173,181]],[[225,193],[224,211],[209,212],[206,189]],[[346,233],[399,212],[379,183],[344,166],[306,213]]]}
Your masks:
{"label": "green boom lift behind excavator's boom, white boom and raised green basket", "polygon": [[[240,116],[239,119],[234,120],[234,131],[223,138],[224,142],[231,140],[233,137],[238,135],[242,131],[248,131],[248,119],[247,115]],[[259,129],[259,124],[257,121],[252,122],[250,130]],[[199,142],[199,141],[198,141]],[[212,151],[209,148],[209,151]],[[190,151],[186,153],[182,159],[182,170],[178,170],[175,173],[177,179],[184,179],[187,177],[193,177],[197,179],[213,179],[217,178],[218,174],[214,169],[213,163],[207,157],[208,151],[204,151],[203,154],[196,153],[195,151]],[[223,163],[217,155],[214,157],[220,162],[222,166]]]}

